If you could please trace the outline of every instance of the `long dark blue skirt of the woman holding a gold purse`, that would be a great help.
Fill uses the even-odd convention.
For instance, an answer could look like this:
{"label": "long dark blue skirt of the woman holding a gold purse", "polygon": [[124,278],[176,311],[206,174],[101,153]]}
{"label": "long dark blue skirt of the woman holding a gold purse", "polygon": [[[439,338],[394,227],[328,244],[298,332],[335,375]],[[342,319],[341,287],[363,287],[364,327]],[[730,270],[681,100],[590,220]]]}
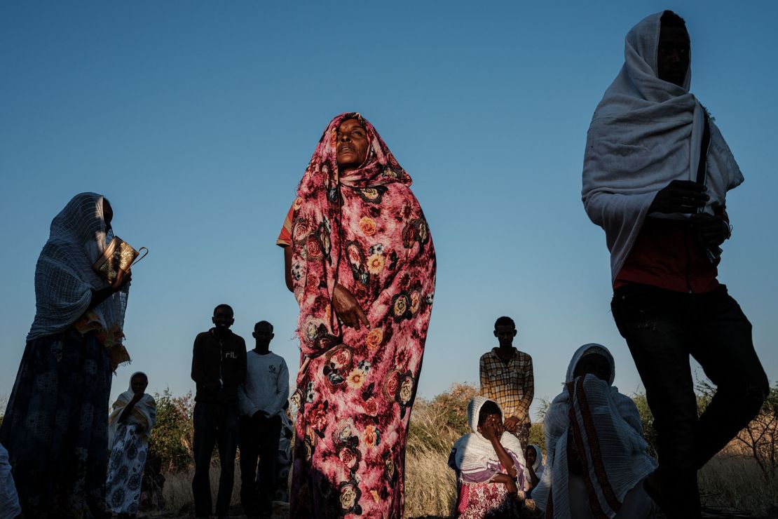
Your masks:
{"label": "long dark blue skirt of the woman holding a gold purse", "polygon": [[93,333],[27,342],[0,426],[27,517],[106,517],[110,383]]}

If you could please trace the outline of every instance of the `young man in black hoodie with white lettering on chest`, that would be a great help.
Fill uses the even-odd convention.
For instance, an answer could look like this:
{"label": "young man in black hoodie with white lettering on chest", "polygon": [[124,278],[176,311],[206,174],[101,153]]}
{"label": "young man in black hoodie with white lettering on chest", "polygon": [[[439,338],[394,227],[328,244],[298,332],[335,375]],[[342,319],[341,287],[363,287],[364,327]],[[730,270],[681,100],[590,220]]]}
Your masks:
{"label": "young man in black hoodie with white lettering on chest", "polygon": [[238,442],[238,384],[246,380],[246,342],[230,331],[233,309],[220,304],[213,310],[214,327],[195,338],[192,355],[192,380],[195,394],[195,515],[209,517],[212,512],[209,469],[213,447],[219,447],[222,474],[216,515],[228,517],[235,478],[235,454]]}

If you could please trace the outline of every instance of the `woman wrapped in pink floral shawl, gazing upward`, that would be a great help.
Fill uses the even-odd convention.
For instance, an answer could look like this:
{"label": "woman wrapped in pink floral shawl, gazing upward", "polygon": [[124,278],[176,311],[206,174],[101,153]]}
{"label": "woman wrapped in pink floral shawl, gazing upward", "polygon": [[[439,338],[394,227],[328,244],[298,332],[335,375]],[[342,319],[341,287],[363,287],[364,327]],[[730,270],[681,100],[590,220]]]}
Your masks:
{"label": "woman wrapped in pink floral shawl, gazing upward", "polygon": [[410,184],[373,125],[340,114],[279,240],[300,303],[291,517],[402,517],[436,266]]}

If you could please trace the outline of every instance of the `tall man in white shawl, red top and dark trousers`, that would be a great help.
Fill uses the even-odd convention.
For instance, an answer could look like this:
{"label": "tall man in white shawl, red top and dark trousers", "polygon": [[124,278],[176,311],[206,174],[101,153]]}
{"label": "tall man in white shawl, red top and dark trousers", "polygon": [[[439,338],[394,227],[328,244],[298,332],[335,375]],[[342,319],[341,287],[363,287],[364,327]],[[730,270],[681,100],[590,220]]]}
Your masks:
{"label": "tall man in white shawl, red top and dark trousers", "polygon": [[[612,312],[646,387],[669,517],[699,517],[696,472],[755,416],[769,384],[751,324],[717,280],[727,191],[743,176],[689,93],[689,33],[671,11],[626,36],[625,63],[592,117],[582,198],[611,252]],[[697,417],[689,355],[717,385]]]}

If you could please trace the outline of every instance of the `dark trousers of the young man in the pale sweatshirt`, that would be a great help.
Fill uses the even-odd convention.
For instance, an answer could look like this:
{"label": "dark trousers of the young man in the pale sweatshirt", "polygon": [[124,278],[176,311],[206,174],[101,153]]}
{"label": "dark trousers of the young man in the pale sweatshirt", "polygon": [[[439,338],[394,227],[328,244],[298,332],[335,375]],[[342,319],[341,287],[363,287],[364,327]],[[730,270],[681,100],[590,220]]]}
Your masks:
{"label": "dark trousers of the young man in the pale sweatshirt", "polygon": [[240,502],[249,517],[272,510],[280,437],[280,416],[240,418]]}

